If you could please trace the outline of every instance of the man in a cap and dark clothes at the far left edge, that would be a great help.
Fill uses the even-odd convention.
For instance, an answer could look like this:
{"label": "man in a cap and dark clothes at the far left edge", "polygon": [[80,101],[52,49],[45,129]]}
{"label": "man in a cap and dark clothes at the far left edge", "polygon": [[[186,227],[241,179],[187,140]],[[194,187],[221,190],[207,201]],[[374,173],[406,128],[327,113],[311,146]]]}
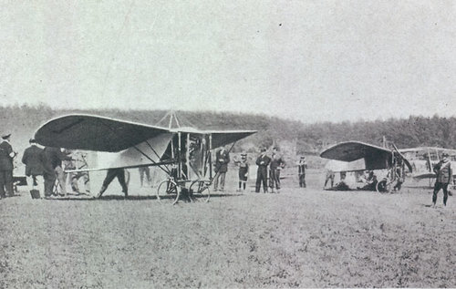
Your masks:
{"label": "man in a cap and dark clothes at the far left edge", "polygon": [[0,197],[5,198],[5,190],[8,196],[13,196],[13,159],[17,153],[9,143],[11,134],[2,136],[2,143],[0,143]]}

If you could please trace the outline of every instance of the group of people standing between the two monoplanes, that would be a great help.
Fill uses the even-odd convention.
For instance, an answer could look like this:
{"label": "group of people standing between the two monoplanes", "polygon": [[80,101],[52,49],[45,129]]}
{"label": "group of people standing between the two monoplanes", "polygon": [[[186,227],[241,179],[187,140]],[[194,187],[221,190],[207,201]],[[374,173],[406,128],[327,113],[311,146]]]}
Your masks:
{"label": "group of people standing between the two monoplanes", "polygon": [[[230,154],[226,148],[217,150],[215,153],[215,176],[213,179],[213,190],[224,191],[225,176],[228,171],[228,163],[230,162]],[[247,160],[247,154],[241,154],[241,160],[236,161],[239,168],[238,176],[238,189],[237,191],[245,191],[246,184],[249,176],[249,163]],[[263,185],[263,191],[266,192],[279,192],[280,173],[285,168],[285,160],[283,156],[278,152],[277,148],[273,148],[271,157],[267,155],[266,149],[262,149],[260,155],[255,160],[257,165],[256,181],[255,181],[255,192],[260,192]],[[298,168],[299,186],[306,188],[306,157],[301,157],[296,162]],[[267,180],[269,178],[269,185]]]}

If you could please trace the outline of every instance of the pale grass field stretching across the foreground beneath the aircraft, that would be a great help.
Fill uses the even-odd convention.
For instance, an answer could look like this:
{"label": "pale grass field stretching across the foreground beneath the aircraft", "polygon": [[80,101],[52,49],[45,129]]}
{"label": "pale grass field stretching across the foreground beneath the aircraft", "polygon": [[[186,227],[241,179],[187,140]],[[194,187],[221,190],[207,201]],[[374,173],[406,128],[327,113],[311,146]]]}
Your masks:
{"label": "pale grass field stretching across the foreground beneath the aircraft", "polygon": [[0,288],[456,287],[454,197],[308,183],[175,206],[22,192],[0,201]]}

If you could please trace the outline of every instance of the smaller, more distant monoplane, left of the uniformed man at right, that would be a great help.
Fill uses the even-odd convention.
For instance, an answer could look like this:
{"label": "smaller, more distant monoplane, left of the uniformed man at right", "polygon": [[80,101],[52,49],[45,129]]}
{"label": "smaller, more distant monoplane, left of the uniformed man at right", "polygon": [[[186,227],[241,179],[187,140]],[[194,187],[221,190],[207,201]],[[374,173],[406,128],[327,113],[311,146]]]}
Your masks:
{"label": "smaller, more distant monoplane, left of the uniformed man at right", "polygon": [[390,192],[404,181],[405,167],[409,172],[412,171],[409,160],[394,144],[391,146],[392,149],[389,150],[360,141],[347,141],[324,150],[320,157],[346,162],[347,167],[340,171],[383,170],[384,177],[378,181],[376,189],[379,192]]}

